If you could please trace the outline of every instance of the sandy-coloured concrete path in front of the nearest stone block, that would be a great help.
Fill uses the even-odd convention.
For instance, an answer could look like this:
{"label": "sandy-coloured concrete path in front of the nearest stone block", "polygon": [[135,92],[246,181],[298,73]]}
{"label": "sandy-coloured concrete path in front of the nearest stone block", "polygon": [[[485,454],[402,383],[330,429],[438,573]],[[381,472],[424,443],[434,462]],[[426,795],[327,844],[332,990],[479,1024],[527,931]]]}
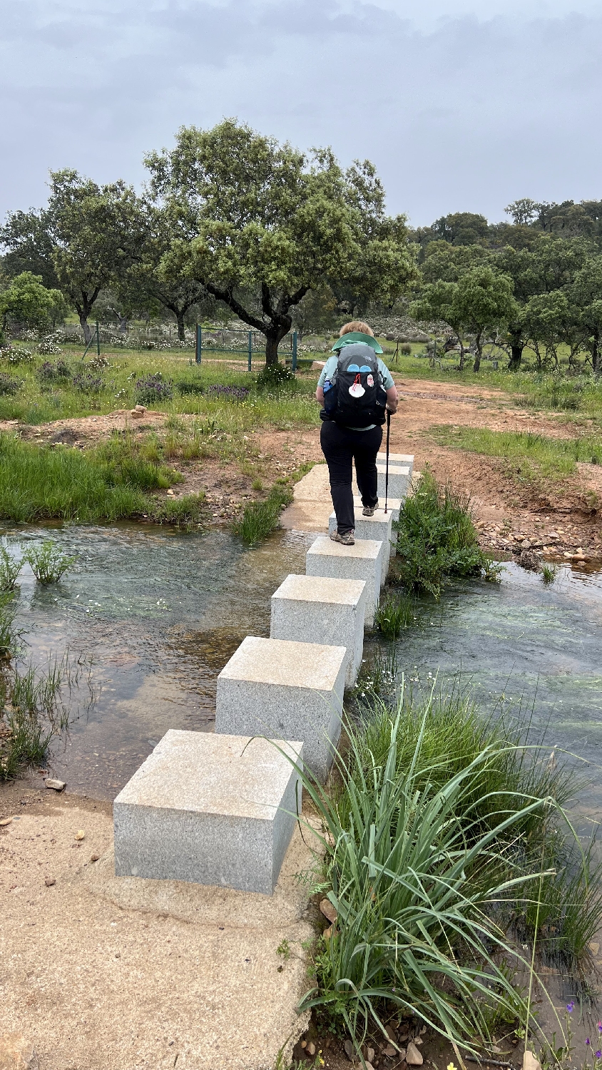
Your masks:
{"label": "sandy-coloured concrete path in front of the nearest stone block", "polygon": [[308,1021],[298,829],[260,896],[115,877],[110,811],[86,807],[63,796],[0,829],[0,1035],[40,1070],[274,1070]]}

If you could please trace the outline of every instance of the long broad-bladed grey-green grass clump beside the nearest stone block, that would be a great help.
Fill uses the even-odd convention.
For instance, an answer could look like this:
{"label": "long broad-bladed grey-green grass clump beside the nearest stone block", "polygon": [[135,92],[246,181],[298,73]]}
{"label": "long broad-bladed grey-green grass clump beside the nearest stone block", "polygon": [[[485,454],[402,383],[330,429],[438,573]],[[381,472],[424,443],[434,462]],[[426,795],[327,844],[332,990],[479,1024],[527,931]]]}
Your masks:
{"label": "long broad-bladed grey-green grass clump beside the nearest stone block", "polygon": [[338,920],[302,1006],[329,1008],[356,1044],[369,1027],[385,1036],[382,1015],[397,1010],[470,1048],[475,1034],[489,1039],[483,1003],[526,1017],[497,964],[509,948],[495,904],[532,878],[509,861],[509,845],[555,804],[530,790],[528,776],[526,791],[504,784],[499,798],[490,788],[489,770],[499,783],[515,750],[495,734],[481,732],[478,752],[463,754],[448,718],[449,752],[437,746],[429,709],[413,716],[403,697],[376,719],[380,751],[350,727],[334,797],[304,775],[322,822],[321,887]]}

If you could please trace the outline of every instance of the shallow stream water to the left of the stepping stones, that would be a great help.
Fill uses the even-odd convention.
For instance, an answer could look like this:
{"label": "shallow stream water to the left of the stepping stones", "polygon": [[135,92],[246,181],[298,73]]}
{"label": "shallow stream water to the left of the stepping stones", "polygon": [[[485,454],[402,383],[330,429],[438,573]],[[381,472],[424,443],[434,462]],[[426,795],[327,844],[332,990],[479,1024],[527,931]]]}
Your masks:
{"label": "shallow stream water to the left of the stepping stones", "polygon": [[48,534],[78,560],[46,587],[29,565],[20,574],[25,659],[44,666],[66,647],[91,658],[98,696],[88,709],[81,674],[50,765],[72,791],[113,798],[168,729],[213,730],[218,672],[245,636],[269,635],[269,598],[305,570],[315,536],[278,532],[248,549],[220,530],[65,525],[13,532],[12,552]]}

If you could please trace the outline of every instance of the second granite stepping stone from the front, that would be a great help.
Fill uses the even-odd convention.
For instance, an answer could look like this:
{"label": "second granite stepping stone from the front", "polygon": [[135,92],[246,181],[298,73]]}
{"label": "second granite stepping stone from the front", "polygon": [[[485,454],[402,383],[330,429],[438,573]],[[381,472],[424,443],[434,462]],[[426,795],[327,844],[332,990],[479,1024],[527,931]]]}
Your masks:
{"label": "second granite stepping stone from the front", "polygon": [[323,780],[341,732],[346,648],[247,636],[217,677],[215,731],[303,739]]}

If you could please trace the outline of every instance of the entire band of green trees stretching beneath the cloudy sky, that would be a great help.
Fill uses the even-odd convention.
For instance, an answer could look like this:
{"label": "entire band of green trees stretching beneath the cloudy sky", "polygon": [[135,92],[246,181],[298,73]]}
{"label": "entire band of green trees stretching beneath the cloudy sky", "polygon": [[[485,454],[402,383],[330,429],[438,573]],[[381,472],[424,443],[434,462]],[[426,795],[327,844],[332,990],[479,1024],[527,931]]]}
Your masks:
{"label": "entire band of green trees stretching beneath the cloudy sky", "polygon": [[[343,170],[331,151],[309,156],[227,120],[183,127],[172,151],[145,157],[142,194],[50,173],[45,208],[0,228],[0,327],[168,318],[184,339],[191,316],[236,316],[265,336],[266,363],[295,327],[399,309],[445,331],[445,346],[483,347],[521,366],[569,363],[600,373],[602,201],[509,204],[511,223],[457,212],[412,230],[389,216],[369,160]],[[581,361],[580,361],[581,356]]]}

